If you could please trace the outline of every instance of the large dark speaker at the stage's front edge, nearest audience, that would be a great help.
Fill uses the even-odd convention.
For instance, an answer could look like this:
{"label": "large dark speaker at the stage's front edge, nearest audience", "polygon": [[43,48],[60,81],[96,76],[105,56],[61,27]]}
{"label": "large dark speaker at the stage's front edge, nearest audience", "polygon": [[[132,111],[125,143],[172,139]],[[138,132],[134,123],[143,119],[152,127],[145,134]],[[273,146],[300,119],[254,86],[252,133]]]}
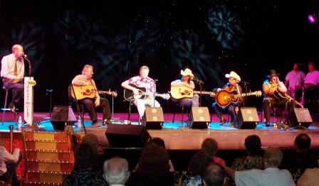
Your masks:
{"label": "large dark speaker at the stage's front edge, nearest audience", "polygon": [[145,126],[111,124],[105,131],[111,147],[141,148],[150,140]]}

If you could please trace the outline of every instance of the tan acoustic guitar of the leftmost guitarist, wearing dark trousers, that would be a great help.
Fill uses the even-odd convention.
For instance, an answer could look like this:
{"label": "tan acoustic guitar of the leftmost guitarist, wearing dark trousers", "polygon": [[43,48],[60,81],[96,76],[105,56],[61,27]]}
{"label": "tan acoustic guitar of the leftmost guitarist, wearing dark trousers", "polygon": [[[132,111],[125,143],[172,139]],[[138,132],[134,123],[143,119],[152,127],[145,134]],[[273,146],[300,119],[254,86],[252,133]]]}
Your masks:
{"label": "tan acoustic guitar of the leftmost guitarist, wearing dark trousers", "polygon": [[117,97],[117,92],[114,91],[104,91],[104,90],[97,90],[93,85],[86,85],[86,86],[76,86],[73,85],[75,96],[73,90],[71,89],[70,95],[75,99],[84,99],[84,98],[94,98],[95,94],[108,94],[113,97]]}

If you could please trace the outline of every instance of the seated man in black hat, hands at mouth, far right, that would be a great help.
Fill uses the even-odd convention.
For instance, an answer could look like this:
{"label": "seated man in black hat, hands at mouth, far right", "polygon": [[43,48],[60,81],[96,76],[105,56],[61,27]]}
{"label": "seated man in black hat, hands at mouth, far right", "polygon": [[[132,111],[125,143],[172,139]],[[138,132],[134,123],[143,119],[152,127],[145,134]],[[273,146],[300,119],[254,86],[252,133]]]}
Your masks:
{"label": "seated man in black hat, hands at mouth, far right", "polygon": [[271,106],[285,106],[288,109],[288,118],[293,113],[296,102],[291,97],[286,96],[287,88],[279,80],[279,74],[276,70],[271,70],[267,76],[269,79],[263,82],[263,114],[265,115],[265,124],[270,126],[269,115]]}

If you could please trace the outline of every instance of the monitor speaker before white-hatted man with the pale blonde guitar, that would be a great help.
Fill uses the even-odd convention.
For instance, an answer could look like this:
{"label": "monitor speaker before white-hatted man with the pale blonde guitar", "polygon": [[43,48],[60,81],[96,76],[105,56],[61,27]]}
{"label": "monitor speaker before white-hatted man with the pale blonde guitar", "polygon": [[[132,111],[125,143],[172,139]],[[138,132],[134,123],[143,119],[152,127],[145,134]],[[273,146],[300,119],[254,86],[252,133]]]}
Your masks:
{"label": "monitor speaker before white-hatted man with the pale blonde guitar", "polygon": [[204,129],[208,128],[210,122],[209,110],[207,107],[192,107],[189,122],[191,128]]}

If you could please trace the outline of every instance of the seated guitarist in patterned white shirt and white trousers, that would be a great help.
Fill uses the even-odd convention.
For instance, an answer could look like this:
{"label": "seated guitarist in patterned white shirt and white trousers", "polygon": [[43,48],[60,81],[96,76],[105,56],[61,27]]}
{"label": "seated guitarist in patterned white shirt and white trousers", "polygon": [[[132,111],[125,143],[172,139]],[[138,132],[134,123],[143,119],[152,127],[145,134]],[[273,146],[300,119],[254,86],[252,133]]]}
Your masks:
{"label": "seated guitarist in patterned white shirt and white trousers", "polygon": [[137,106],[138,114],[140,114],[140,119],[143,118],[145,112],[145,105],[152,107],[160,107],[160,103],[155,100],[154,93],[156,92],[155,80],[148,77],[150,72],[149,67],[140,67],[140,75],[130,78],[125,82],[122,82],[122,87],[125,89],[130,89],[134,94],[139,94],[137,88],[130,86],[130,84],[135,84],[137,87],[145,87],[147,92],[147,97],[145,99],[135,99],[134,104]]}

